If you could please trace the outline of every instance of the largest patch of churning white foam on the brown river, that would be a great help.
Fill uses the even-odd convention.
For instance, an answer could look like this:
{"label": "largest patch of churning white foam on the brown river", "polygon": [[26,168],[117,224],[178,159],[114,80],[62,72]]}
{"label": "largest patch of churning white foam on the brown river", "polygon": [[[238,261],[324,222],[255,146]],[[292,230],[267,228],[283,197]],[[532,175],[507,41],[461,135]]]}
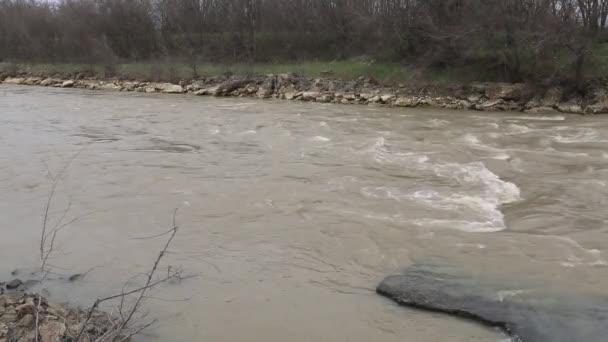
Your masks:
{"label": "largest patch of churning white foam on the brown river", "polygon": [[[502,150],[481,144],[479,139],[468,134],[465,141],[485,149],[497,150],[501,154],[497,157],[509,158]],[[423,203],[427,206],[470,215],[471,219],[414,219],[416,225],[425,227],[447,227],[466,232],[497,232],[506,229],[504,215],[500,206],[521,199],[520,189],[513,183],[501,180],[496,174],[486,168],[482,162],[467,164],[429,162],[426,155],[413,152],[399,152],[389,149],[386,140],[376,139],[373,146],[368,149],[376,162],[380,164],[399,164],[407,169],[420,172],[432,172],[436,176],[456,181],[462,186],[462,191],[451,190],[443,193],[435,190],[419,190],[414,193],[403,193],[396,187],[365,187],[362,194],[371,198],[394,199],[397,201],[410,200]]]}

